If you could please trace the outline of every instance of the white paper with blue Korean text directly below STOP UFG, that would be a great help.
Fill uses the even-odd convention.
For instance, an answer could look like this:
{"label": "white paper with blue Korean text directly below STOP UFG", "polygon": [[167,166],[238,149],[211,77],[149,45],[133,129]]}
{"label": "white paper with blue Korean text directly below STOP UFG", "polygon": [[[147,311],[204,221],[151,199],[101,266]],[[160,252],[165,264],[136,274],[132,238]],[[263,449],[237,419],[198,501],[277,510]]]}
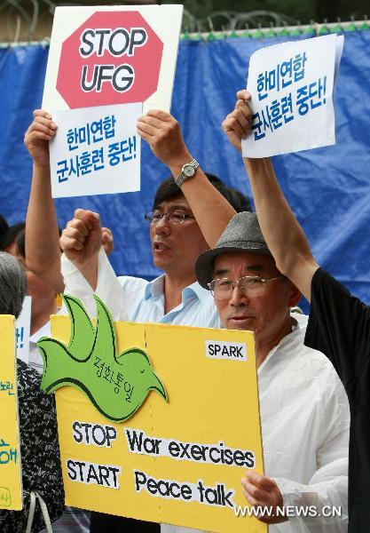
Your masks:
{"label": "white paper with blue Korean text directly below STOP UFG", "polygon": [[50,144],[53,198],[140,189],[141,104],[55,111]]}

